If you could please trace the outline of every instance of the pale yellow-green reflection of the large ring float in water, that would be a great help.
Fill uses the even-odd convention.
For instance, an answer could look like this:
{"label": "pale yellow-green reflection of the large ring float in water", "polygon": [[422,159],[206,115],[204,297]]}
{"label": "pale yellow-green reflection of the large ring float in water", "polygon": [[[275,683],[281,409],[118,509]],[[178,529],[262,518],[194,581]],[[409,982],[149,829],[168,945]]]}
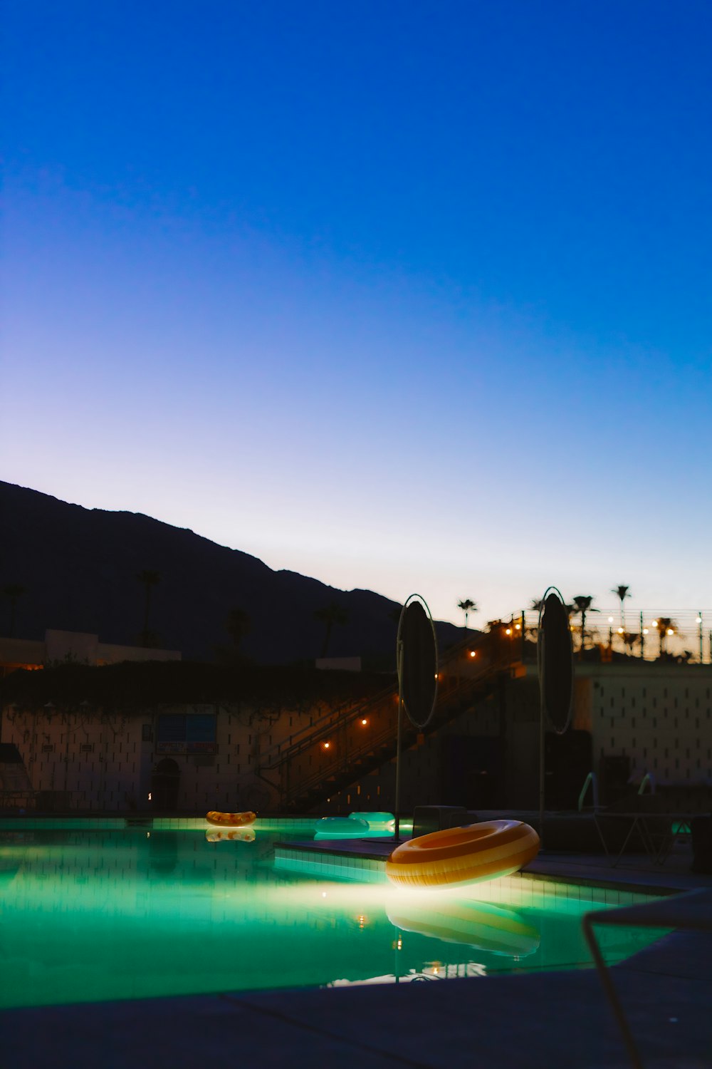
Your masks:
{"label": "pale yellow-green reflection of the large ring float in water", "polygon": [[512,910],[485,902],[440,901],[428,905],[399,905],[389,920],[401,931],[416,932],[445,943],[462,943],[509,958],[526,958],[539,946],[539,931]]}

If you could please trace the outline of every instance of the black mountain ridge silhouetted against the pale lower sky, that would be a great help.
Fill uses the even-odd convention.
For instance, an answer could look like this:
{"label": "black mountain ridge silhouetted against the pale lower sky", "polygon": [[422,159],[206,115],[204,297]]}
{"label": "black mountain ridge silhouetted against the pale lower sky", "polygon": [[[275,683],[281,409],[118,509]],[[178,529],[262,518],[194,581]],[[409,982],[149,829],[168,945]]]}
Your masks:
{"label": "black mountain ridge silhouetted against the pale lower sky", "polygon": [[[162,648],[186,659],[212,661],[218,648],[230,648],[227,620],[237,608],[249,618],[241,655],[259,664],[314,660],[325,637],[314,614],[336,605],[345,622],[331,632],[330,656],[361,655],[364,667],[395,667],[397,604],[381,594],[273,571],[250,554],[141,513],[84,509],[0,481],[0,588],[25,588],[15,605],[15,637],[42,639],[56,628],[136,645],[145,623],[138,576],[146,571],[159,574],[151,630]],[[1,635],[9,618],[3,599]],[[462,637],[450,623],[438,623],[437,631],[443,647]]]}

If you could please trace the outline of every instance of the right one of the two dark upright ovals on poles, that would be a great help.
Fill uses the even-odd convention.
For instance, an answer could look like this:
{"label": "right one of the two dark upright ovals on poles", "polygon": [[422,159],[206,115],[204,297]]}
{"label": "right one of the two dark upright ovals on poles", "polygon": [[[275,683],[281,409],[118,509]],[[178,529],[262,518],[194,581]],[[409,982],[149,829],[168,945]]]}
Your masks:
{"label": "right one of the two dark upright ovals on poles", "polygon": [[573,647],[569,616],[556,587],[549,587],[541,603],[537,661],[542,715],[557,734],[564,734],[571,718]]}

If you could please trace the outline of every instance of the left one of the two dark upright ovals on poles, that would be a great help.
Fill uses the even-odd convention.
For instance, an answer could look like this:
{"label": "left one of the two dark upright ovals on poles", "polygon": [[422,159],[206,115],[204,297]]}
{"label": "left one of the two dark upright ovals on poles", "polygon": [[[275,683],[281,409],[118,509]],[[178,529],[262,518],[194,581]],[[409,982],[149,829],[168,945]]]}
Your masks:
{"label": "left one of the two dark upright ovals on poles", "polygon": [[418,594],[411,598],[398,624],[398,684],[409,719],[424,728],[438,696],[438,645],[428,606]]}

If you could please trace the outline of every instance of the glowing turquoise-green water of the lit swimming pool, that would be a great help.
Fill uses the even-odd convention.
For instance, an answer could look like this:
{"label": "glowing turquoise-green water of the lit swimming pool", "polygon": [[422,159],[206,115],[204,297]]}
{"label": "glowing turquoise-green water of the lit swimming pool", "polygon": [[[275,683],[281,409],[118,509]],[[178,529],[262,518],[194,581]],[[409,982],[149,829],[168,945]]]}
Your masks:
{"label": "glowing turquoise-green water of the lit swimming pool", "polygon": [[[287,830],[208,835],[0,831],[0,1006],[589,964],[590,893],[523,879],[464,895],[402,890],[376,870],[325,874],[284,850],[275,862]],[[600,931],[610,961],[658,934]]]}

